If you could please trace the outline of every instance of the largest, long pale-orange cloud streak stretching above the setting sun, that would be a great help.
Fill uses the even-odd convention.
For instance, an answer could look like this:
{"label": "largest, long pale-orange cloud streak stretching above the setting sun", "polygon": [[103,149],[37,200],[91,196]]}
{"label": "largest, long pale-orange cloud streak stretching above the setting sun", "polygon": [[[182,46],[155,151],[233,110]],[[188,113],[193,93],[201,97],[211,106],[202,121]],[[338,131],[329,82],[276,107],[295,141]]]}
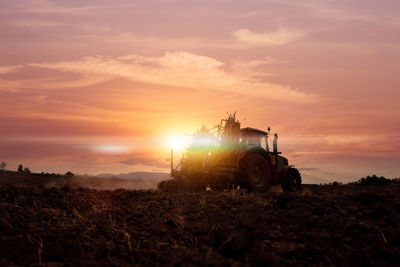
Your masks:
{"label": "largest, long pale-orange cloud streak stretching above the setting sun", "polygon": [[77,61],[33,63],[30,66],[99,77],[123,77],[147,84],[222,91],[263,99],[298,103],[319,100],[316,95],[294,90],[290,86],[255,79],[248,70],[226,71],[223,62],[187,52],[166,52],[160,57],[94,56]]}

